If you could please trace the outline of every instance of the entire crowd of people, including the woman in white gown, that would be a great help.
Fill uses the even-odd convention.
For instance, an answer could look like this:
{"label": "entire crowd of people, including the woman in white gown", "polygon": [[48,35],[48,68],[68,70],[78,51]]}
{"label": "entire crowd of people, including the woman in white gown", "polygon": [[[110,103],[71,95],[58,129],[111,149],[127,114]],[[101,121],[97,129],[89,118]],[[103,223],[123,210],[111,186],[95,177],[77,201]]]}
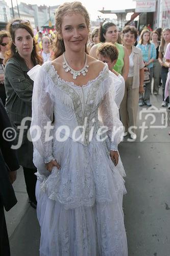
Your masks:
{"label": "entire crowd of people, including the woman in white gown", "polygon": [[[0,31],[0,255],[10,255],[4,206],[16,204],[19,165],[37,209],[41,256],[128,255],[118,144],[122,135],[136,139],[138,105],[152,105],[152,84],[157,97],[162,83],[161,106],[170,109],[170,29],[159,33],[118,33],[112,22],[90,31],[80,2],[58,8],[55,40],[35,38],[29,20]],[[3,137],[10,126],[16,150]]]}

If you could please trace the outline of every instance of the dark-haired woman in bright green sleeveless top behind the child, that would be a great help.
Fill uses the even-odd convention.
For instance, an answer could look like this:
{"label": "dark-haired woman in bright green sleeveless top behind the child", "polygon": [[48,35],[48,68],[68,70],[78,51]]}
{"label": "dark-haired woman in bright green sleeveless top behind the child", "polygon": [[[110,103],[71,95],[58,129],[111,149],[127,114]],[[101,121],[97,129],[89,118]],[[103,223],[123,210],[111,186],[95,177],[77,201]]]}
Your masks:
{"label": "dark-haired woman in bright green sleeveless top behind the child", "polygon": [[[118,31],[116,25],[112,22],[103,23],[100,28],[100,42],[112,42],[117,47],[118,59],[114,65],[114,70],[121,74],[126,81],[129,72],[129,56],[127,49],[124,46],[117,44],[117,38]],[[91,48],[89,55],[97,58],[96,49],[98,49],[99,45],[100,44],[94,45]]]}

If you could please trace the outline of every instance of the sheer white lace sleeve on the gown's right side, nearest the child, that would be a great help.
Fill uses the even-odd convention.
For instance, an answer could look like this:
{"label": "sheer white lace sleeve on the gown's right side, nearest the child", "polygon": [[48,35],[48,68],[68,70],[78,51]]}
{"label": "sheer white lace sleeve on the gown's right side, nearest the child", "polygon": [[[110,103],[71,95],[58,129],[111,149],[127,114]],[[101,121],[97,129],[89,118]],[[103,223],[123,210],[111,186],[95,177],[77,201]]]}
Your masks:
{"label": "sheer white lace sleeve on the gown's right side, nearest the child", "polygon": [[122,140],[123,124],[119,119],[119,112],[114,100],[114,80],[109,85],[99,106],[99,119],[107,126],[110,139],[110,150],[117,151],[117,146]]}

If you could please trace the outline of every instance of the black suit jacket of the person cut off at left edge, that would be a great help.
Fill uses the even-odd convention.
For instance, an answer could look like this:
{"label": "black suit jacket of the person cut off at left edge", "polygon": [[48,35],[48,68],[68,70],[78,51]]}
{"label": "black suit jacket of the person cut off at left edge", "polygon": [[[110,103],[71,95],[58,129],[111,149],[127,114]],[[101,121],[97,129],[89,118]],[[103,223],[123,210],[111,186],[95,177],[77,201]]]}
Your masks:
{"label": "black suit jacket of the person cut off at left edge", "polygon": [[1,100],[0,120],[0,200],[8,211],[17,203],[8,172],[17,170],[19,164],[16,158],[16,152],[11,149],[12,143],[3,137],[4,129],[11,127],[11,123]]}

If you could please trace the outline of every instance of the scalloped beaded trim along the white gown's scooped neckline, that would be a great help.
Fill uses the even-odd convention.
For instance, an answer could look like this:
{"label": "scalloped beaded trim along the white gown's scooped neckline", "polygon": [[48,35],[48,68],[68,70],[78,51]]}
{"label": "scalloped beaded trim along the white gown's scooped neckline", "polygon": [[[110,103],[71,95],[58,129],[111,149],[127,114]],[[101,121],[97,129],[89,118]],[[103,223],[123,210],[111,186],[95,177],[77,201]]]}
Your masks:
{"label": "scalloped beaded trim along the white gown's scooped neckline", "polygon": [[[82,86],[77,86],[74,82],[69,82],[69,81],[66,81],[66,80],[64,80],[63,78],[61,78],[61,77],[59,76],[57,70],[55,69],[54,65],[52,64],[52,61],[48,61],[48,62],[46,62],[46,63],[48,63],[48,65],[51,67],[51,69],[55,72],[55,74],[57,75],[57,78],[58,78],[58,80],[59,80],[60,82],[63,82],[63,83],[65,83],[65,84],[67,84],[67,85],[69,85],[69,86],[71,86],[71,87],[78,88],[78,89],[82,89],[82,88],[89,87],[91,83],[95,82],[99,77],[104,76],[104,74],[109,71],[108,66],[107,66],[107,63],[106,63],[105,66],[104,66],[104,68],[103,68],[103,70],[99,73],[98,76],[96,76],[96,77],[95,77],[94,79],[92,79],[92,80],[89,80],[86,84],[83,84]],[[108,73],[109,73],[109,72],[108,72]]]}

